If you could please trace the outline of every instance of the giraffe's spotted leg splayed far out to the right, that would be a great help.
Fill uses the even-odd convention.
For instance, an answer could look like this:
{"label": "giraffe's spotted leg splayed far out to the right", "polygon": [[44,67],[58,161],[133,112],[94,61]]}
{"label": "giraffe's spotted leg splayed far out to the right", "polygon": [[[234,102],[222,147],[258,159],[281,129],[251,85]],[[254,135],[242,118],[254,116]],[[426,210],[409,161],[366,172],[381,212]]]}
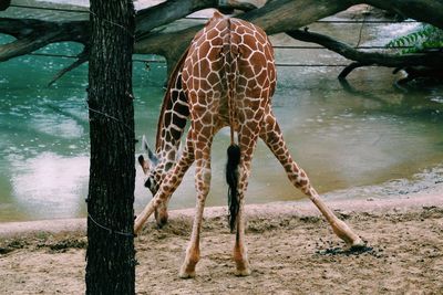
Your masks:
{"label": "giraffe's spotted leg splayed far out to the right", "polygon": [[271,112],[268,112],[265,117],[260,137],[284,166],[292,185],[309,197],[331,224],[333,232],[351,247],[364,246],[360,236],[357,235],[343,221],[338,219],[333,214],[332,210],[329,209],[329,207],[320,199],[317,191],[310,185],[306,172],[293,161],[285,144],[279,125]]}

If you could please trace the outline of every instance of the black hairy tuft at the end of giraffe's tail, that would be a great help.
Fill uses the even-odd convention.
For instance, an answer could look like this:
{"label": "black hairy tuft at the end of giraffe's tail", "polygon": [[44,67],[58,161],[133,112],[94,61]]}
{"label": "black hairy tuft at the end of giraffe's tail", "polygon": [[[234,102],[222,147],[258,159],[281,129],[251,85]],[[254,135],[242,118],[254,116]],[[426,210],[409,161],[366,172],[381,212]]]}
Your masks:
{"label": "black hairy tuft at the end of giraffe's tail", "polygon": [[229,207],[229,226],[234,232],[238,209],[240,207],[238,200],[238,165],[240,164],[240,147],[231,144],[227,150],[228,162],[226,164],[226,182],[228,183],[228,207]]}

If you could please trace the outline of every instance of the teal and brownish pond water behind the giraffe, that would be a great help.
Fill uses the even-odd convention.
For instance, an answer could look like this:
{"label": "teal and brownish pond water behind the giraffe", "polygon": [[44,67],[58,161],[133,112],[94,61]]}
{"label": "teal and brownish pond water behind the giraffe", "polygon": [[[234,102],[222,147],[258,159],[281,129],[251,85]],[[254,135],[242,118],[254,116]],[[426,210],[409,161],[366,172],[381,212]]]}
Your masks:
{"label": "teal and brownish pond water behind the giraffe", "polygon": [[[359,28],[317,25],[312,30],[321,29],[352,43]],[[363,44],[383,44],[396,30],[395,25],[367,28]],[[0,35],[0,43],[9,40]],[[275,44],[292,42],[285,36],[272,40]],[[41,52],[74,55],[80,51],[79,44],[60,43]],[[344,63],[326,50],[278,50],[276,55],[280,63]],[[85,215],[87,65],[47,86],[71,62],[27,55],[0,63],[0,221]],[[164,64],[151,64],[146,70],[143,63],[134,63],[136,137],[146,134],[152,146],[165,71]],[[318,191],[327,198],[389,198],[441,182],[443,87],[415,83],[400,88],[394,86],[391,70],[379,67],[357,70],[348,84],[341,84],[339,71],[278,69],[274,109],[292,155]],[[228,143],[228,130],[224,129],[214,143],[208,206],[227,202],[224,165]],[[143,188],[138,167],[135,196],[140,211],[151,196]],[[261,143],[246,198],[248,203],[302,198]],[[171,207],[190,208],[194,200],[190,169]]]}

